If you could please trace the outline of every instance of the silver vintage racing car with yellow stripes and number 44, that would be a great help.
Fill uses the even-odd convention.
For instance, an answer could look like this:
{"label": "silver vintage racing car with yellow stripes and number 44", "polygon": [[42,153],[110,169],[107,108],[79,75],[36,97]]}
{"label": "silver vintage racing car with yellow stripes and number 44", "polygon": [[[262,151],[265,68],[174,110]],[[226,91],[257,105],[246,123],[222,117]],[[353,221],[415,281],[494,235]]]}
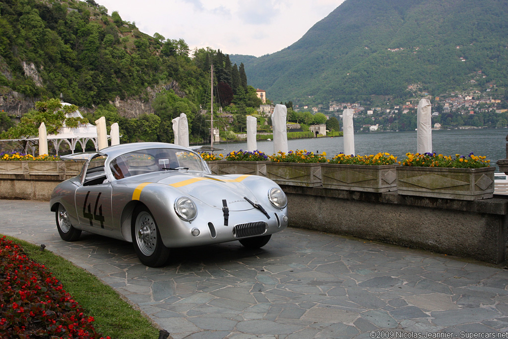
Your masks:
{"label": "silver vintage racing car with yellow stripes and number 44", "polygon": [[164,265],[171,248],[232,240],[260,248],[288,226],[287,198],[275,182],[213,175],[185,147],[140,142],[62,158],[85,162],[51,196],[60,237],[87,231],[132,242],[147,266]]}

